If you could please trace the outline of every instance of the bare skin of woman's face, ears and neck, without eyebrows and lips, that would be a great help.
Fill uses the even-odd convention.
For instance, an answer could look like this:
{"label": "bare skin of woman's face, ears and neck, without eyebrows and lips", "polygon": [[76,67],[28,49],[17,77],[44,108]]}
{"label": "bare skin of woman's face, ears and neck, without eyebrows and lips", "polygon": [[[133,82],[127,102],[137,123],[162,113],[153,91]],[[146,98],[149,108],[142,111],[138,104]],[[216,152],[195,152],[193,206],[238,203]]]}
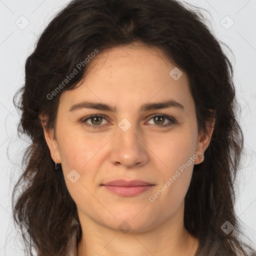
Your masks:
{"label": "bare skin of woman's face, ears and neck, without eyebrows and lips", "polygon": [[[45,131],[51,157],[61,162],[67,189],[77,205],[82,228],[78,256],[194,255],[199,241],[184,227],[184,197],[193,165],[203,161],[213,128],[198,133],[187,75],[182,71],[174,80],[169,72],[175,65],[159,49],[138,43],[99,52],[90,61],[81,85],[61,94],[56,139],[53,131]],[[138,111],[143,103],[167,99],[178,101],[184,110]],[[69,111],[84,100],[115,106],[116,112]],[[81,122],[93,114],[103,114],[105,119],[87,119],[86,123],[101,128]],[[176,122],[163,127],[170,121],[157,122],[153,114],[173,117]],[[126,131],[118,126],[123,118],[131,124]],[[197,151],[202,158],[197,157],[151,202],[149,196]],[[74,183],[67,177],[72,169],[80,175]],[[118,178],[142,179],[154,186],[135,196],[116,195],[101,186]],[[120,225],[127,225],[127,232]]]}

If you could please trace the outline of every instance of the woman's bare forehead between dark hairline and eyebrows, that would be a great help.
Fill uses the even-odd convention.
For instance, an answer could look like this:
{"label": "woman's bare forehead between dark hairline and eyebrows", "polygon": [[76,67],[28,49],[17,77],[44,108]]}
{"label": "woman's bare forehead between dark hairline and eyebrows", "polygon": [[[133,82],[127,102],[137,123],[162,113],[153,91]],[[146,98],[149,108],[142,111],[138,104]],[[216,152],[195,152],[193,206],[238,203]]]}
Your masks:
{"label": "woman's bare forehead between dark hairline and eyebrows", "polygon": [[[173,72],[178,79],[173,79]],[[168,61],[160,49],[142,44],[99,51],[90,60],[79,86],[62,94],[69,106],[88,99],[109,105],[129,103],[127,107],[169,98],[185,107],[193,103],[187,75]]]}

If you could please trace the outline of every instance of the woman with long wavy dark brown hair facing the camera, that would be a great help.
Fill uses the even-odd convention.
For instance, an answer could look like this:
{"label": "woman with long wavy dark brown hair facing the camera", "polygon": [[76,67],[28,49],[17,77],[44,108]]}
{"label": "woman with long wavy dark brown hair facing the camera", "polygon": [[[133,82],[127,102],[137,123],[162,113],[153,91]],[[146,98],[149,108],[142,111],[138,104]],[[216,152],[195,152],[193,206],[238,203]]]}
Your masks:
{"label": "woman with long wavy dark brown hair facing the camera", "polygon": [[232,66],[203,21],[175,0],[73,0],[44,29],[18,103],[30,255],[247,255]]}

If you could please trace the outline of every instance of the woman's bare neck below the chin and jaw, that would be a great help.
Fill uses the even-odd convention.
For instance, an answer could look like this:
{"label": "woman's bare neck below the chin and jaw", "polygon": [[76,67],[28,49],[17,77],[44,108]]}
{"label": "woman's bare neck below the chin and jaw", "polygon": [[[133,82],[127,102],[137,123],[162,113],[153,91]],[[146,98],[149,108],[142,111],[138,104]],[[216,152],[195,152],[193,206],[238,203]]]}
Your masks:
{"label": "woman's bare neck below the chin and jaw", "polygon": [[175,216],[143,232],[122,233],[86,216],[79,216],[79,219],[82,236],[78,243],[78,256],[130,256],[131,253],[133,256],[194,256],[199,245],[198,239],[185,229],[183,214],[178,211]]}

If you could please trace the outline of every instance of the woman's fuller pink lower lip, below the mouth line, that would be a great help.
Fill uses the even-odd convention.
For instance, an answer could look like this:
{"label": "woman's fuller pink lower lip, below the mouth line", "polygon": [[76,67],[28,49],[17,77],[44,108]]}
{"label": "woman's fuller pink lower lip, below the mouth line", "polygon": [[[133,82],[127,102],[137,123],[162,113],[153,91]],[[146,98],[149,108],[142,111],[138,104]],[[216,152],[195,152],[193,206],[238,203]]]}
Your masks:
{"label": "woman's fuller pink lower lip, below the mouth line", "polygon": [[149,190],[153,185],[144,185],[144,186],[111,186],[104,185],[104,187],[110,190],[113,193],[124,195],[124,196],[133,196],[140,194]]}

